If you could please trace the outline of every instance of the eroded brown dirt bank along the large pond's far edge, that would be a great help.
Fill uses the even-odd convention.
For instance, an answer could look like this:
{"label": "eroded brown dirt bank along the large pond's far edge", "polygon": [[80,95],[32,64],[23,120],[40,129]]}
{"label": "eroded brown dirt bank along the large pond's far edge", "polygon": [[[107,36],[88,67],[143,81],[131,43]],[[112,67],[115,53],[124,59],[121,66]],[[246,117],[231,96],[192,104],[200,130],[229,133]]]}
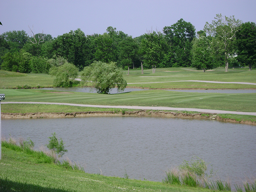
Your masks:
{"label": "eroded brown dirt bank along the large pond's far edge", "polygon": [[179,117],[179,118],[193,118],[193,119],[212,119],[218,121],[225,121],[229,123],[243,123],[256,125],[252,121],[236,121],[235,119],[225,119],[212,113],[179,113],[179,112],[165,112],[165,111],[92,111],[92,112],[73,112],[73,113],[1,113],[2,119],[20,119],[20,118],[60,118],[60,117],[88,117],[88,116],[152,116],[152,117]]}

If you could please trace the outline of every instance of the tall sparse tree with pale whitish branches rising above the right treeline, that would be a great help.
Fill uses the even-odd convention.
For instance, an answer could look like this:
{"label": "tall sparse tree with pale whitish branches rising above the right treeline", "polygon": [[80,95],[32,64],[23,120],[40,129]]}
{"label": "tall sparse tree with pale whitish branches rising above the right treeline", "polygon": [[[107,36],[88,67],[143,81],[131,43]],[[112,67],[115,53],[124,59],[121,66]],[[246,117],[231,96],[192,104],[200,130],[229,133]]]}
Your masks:
{"label": "tall sparse tree with pale whitish branches rising above the right treeline", "polygon": [[236,32],[241,25],[240,20],[236,20],[234,16],[223,17],[217,14],[215,20],[211,24],[206,22],[204,31],[213,38],[213,45],[215,45],[219,52],[224,54],[225,71],[228,71],[229,55],[234,52],[234,41],[236,39]]}

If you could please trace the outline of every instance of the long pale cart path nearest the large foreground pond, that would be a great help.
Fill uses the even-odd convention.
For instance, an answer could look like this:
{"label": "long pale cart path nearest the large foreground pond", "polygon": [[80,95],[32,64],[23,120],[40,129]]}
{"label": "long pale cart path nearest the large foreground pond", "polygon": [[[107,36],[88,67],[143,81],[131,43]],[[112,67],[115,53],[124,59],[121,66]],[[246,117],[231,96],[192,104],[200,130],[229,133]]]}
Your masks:
{"label": "long pale cart path nearest the large foreground pond", "polygon": [[121,108],[121,109],[144,109],[144,110],[169,110],[169,111],[196,111],[203,113],[228,113],[236,115],[254,115],[256,112],[241,112],[241,111],[222,111],[212,109],[196,109],[196,108],[175,108],[175,107],[150,107],[150,106],[125,106],[125,105],[85,105],[74,103],[49,103],[49,102],[2,102],[1,104],[54,104],[54,105],[70,105],[79,107],[99,107],[99,108]]}

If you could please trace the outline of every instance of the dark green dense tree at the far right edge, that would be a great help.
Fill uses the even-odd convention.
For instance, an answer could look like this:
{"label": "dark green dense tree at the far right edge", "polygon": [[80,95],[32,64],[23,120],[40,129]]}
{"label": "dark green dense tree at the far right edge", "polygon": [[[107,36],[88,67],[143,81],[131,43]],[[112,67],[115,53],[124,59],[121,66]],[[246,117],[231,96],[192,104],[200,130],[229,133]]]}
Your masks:
{"label": "dark green dense tree at the far right edge", "polygon": [[243,23],[236,33],[237,59],[240,63],[248,65],[249,70],[256,67],[256,25]]}

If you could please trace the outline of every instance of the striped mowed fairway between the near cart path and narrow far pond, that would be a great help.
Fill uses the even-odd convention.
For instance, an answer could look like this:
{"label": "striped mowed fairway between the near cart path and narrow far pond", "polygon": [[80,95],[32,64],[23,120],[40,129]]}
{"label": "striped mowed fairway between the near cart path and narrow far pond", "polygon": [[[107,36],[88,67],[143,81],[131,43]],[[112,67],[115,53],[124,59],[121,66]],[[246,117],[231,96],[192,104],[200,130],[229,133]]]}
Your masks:
{"label": "striped mowed fairway between the near cart path and narrow far pond", "polygon": [[[76,103],[91,105],[139,105],[182,108],[217,109],[226,111],[255,112],[256,93],[188,93],[165,90],[147,90],[114,95],[97,93],[63,93],[40,89],[0,89],[5,101],[36,101],[56,103]],[[4,101],[3,101],[4,103]],[[8,108],[3,105],[2,112]],[[81,109],[80,109],[81,110]],[[41,111],[31,111],[41,112]],[[60,111],[63,112],[63,111]]]}

